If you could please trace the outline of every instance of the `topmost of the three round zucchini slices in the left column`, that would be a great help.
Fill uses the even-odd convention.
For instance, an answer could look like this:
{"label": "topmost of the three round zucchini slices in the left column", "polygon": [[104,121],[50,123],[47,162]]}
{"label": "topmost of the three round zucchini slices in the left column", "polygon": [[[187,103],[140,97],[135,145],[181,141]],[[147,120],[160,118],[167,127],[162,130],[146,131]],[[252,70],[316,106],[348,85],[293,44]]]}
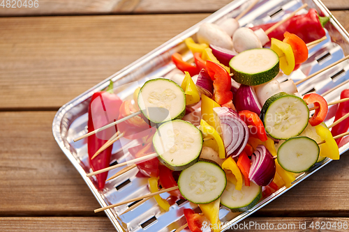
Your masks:
{"label": "topmost of the three round zucchini slices in the left column", "polygon": [[140,88],[138,107],[153,123],[181,119],[186,110],[186,95],[181,86],[170,79],[151,79]]}

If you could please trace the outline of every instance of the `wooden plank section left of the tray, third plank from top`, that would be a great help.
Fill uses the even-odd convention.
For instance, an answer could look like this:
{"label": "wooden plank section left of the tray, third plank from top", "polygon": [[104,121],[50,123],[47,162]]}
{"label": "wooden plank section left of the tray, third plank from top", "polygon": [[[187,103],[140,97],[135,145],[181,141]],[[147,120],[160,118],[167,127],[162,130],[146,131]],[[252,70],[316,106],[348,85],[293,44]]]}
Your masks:
{"label": "wooden plank section left of the tray, third plank from top", "polygon": [[93,215],[99,207],[52,137],[54,114],[0,113],[0,215]]}

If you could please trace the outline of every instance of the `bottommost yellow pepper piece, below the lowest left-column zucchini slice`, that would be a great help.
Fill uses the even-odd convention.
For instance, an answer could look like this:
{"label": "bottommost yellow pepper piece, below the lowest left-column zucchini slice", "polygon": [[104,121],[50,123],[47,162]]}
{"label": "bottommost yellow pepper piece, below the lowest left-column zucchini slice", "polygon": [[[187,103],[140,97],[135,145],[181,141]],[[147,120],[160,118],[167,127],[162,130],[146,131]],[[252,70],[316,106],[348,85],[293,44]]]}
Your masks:
{"label": "bottommost yellow pepper piece, below the lowest left-column zucchini slice", "polygon": [[219,206],[221,203],[221,197],[207,204],[200,204],[199,207],[204,213],[205,217],[209,219],[211,223],[211,229],[214,232],[221,231],[221,221],[219,220]]}

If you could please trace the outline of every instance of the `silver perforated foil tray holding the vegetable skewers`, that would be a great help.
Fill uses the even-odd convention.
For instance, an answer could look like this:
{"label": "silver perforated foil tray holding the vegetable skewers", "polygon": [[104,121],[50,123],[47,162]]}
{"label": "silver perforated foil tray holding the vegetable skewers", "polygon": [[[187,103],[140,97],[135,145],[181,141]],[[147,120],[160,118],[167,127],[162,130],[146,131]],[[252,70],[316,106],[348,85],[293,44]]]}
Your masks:
{"label": "silver perforated foil tray holding the vegetable skewers", "polygon": [[[183,54],[185,60],[192,58],[192,54],[191,52],[188,52],[188,49],[183,44],[183,40],[190,36],[195,38],[195,33],[198,31],[200,24],[204,22],[218,22],[227,17],[236,17],[240,12],[242,12],[242,10],[244,10],[244,8],[251,4],[251,2],[252,1],[247,0],[232,1],[232,3],[221,8],[221,10],[216,11],[216,13],[210,15],[205,20],[202,20],[190,29],[180,33],[168,42],[165,42],[160,47],[149,52],[149,54],[138,59],[138,61],[131,63],[131,65],[128,65],[126,68],[105,79],[103,82],[97,84],[85,93],[82,93],[82,95],[77,96],[77,98],[66,103],[66,105],[59,109],[52,123],[54,139],[56,139],[70,162],[72,162],[77,171],[79,171],[101,206],[109,206],[112,203],[133,199],[137,196],[148,194],[149,190],[147,187],[147,178],[136,176],[138,169],[132,169],[118,178],[107,182],[105,189],[101,192],[98,192],[96,187],[94,187],[96,179],[94,177],[86,177],[86,174],[91,172],[87,155],[87,140],[85,139],[74,143],[73,139],[87,132],[87,111],[91,95],[106,88],[111,79],[112,82],[114,82],[114,86],[119,86],[116,89],[119,97],[123,100],[130,98],[134,89],[137,86],[142,85],[147,79],[164,77],[174,70],[175,66],[170,58],[171,54],[174,52],[180,52]],[[241,26],[253,26],[265,24],[267,22],[276,22],[281,20],[281,18],[285,17],[288,13],[299,8],[299,6],[302,6],[302,3],[308,3],[309,6],[307,9],[315,8],[322,15],[331,17],[330,22],[325,26],[325,29],[327,30],[327,40],[310,49],[308,61],[303,63],[301,68],[293,72],[292,75],[277,77],[280,82],[283,82],[286,79],[293,79],[297,82],[297,80],[303,79],[304,77],[311,75],[313,72],[316,72],[349,54],[348,32],[343,29],[343,26],[339,24],[325,5],[318,0],[261,0],[260,3],[258,3],[247,15],[239,20],[239,23]],[[299,13],[306,13],[306,10],[302,10]],[[299,85],[299,93],[304,94],[316,91],[316,93],[323,94],[330,88],[341,85],[341,87],[337,88],[336,91],[325,93],[327,101],[331,102],[339,100],[339,93],[341,93],[343,89],[349,88],[349,84],[347,84],[347,80],[349,79],[348,68],[348,61],[344,61],[343,63],[336,65],[334,68],[322,72],[320,75],[313,77],[313,79]],[[329,112],[332,111],[331,108],[329,109]],[[333,120],[333,117],[329,118],[329,120],[326,121],[327,125],[331,124]],[[127,139],[121,139],[119,144],[114,144],[111,165],[116,162],[120,163],[131,159],[127,148],[137,144],[138,141],[129,141]],[[342,146],[339,151],[343,154],[348,150],[348,148],[349,144],[346,144],[345,146]],[[237,214],[232,213],[225,208],[221,208],[219,215],[221,222],[223,222],[223,231],[245,217],[248,217],[248,215],[251,215],[267,203],[273,201],[281,194],[290,190],[290,188],[295,187],[295,185],[331,161],[332,160],[327,158],[320,164],[316,164],[311,168],[311,170],[298,176],[291,187],[283,187],[277,192],[274,192],[271,196],[262,199],[262,201],[260,201],[255,207],[251,208],[251,210]],[[119,170],[121,170],[121,168],[110,171],[108,176],[110,177],[114,175],[114,173]],[[169,194],[164,193],[161,194],[161,196],[167,198]],[[174,231],[179,228],[179,226],[186,223],[183,209],[194,209],[198,207],[188,201],[177,201],[177,203],[174,203],[170,207],[168,212],[163,212],[157,206],[156,201],[150,199],[131,212],[121,215],[121,213],[130,205],[131,203],[128,203],[117,208],[105,210],[107,217],[110,218],[110,221],[114,224],[117,231]]]}

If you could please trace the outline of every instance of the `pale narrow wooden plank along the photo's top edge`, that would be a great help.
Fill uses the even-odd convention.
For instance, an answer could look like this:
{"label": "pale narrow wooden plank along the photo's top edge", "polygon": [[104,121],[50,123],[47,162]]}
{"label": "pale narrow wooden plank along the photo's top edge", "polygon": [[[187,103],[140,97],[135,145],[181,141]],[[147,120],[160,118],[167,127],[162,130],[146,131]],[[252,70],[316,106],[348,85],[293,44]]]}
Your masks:
{"label": "pale narrow wooden plank along the photo's top edge", "polygon": [[[2,1],[2,0],[1,0]],[[66,1],[37,0],[38,7],[32,5],[20,7],[12,4],[0,7],[0,16],[34,16],[34,15],[106,15],[106,14],[146,14],[146,13],[213,13],[231,2],[231,0],[101,0],[101,1]],[[24,0],[21,0],[24,3]],[[347,10],[346,0],[322,0],[330,10]],[[34,0],[33,0],[34,4]],[[10,8],[9,8],[10,6]],[[16,7],[16,8],[12,8]]]}

